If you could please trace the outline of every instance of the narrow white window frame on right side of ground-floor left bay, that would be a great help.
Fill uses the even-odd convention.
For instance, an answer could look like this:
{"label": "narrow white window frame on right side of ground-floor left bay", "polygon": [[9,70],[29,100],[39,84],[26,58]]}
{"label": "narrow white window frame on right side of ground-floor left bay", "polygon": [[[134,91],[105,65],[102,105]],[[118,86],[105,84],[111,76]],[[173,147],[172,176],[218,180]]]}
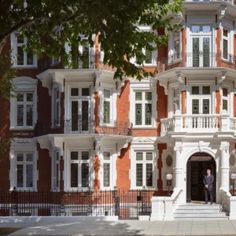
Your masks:
{"label": "narrow white window frame on right side of ground-floor left bay", "polygon": [[[104,152],[110,153],[110,160],[104,160]],[[100,165],[100,188],[101,190],[114,190],[114,187],[116,186],[116,160],[117,156],[115,155],[114,150],[106,148],[103,149],[99,155],[101,165]],[[104,164],[109,163],[110,164],[110,186],[105,187],[104,186]]]}

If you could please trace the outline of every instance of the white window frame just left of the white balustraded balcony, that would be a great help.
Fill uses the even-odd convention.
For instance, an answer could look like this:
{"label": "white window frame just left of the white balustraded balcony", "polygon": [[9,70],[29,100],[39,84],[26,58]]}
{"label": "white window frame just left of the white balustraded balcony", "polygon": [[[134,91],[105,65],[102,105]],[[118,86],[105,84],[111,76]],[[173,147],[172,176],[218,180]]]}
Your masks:
{"label": "white window frame just left of the white balustraded balcony", "polygon": [[[145,110],[142,111],[142,124],[135,124],[135,92],[152,92],[152,121],[151,125],[145,125]],[[144,99],[144,96],[142,96]],[[149,102],[148,102],[149,103]],[[143,102],[145,104],[145,101]],[[131,81],[130,83],[130,121],[133,124],[133,128],[155,128],[156,127],[156,117],[157,117],[157,93],[156,93],[156,84],[151,81]],[[142,105],[142,107],[145,105]]]}

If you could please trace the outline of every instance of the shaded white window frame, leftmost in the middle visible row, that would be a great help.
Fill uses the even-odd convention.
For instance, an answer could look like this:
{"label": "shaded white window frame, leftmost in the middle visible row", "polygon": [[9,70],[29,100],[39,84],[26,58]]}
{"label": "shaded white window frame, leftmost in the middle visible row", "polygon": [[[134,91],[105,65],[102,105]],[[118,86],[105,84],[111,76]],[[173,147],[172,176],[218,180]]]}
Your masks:
{"label": "shaded white window frame, leftmost in the middle visible row", "polygon": [[[10,129],[34,129],[37,122],[37,80],[30,77],[17,77],[13,80],[15,94],[10,98]],[[33,93],[33,123],[32,126],[17,126],[17,93]]]}

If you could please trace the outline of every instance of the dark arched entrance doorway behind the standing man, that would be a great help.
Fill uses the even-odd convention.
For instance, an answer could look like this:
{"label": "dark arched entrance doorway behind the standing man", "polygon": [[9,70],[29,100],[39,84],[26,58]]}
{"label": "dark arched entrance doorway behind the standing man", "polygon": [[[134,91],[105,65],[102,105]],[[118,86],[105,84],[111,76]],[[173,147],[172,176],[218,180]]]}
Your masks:
{"label": "dark arched entrance doorway behind the standing man", "polygon": [[203,178],[206,170],[214,175],[213,196],[216,198],[216,163],[207,153],[196,153],[187,162],[187,202],[204,201]]}

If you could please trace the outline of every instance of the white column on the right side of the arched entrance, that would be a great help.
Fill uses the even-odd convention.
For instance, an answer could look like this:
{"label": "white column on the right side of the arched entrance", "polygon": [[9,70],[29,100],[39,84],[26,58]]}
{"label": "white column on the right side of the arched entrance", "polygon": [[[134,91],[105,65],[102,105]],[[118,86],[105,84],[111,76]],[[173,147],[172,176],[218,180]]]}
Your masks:
{"label": "white column on the right side of the arched entrance", "polygon": [[224,191],[229,191],[229,143],[221,142],[220,145],[221,151],[221,183],[220,189]]}

